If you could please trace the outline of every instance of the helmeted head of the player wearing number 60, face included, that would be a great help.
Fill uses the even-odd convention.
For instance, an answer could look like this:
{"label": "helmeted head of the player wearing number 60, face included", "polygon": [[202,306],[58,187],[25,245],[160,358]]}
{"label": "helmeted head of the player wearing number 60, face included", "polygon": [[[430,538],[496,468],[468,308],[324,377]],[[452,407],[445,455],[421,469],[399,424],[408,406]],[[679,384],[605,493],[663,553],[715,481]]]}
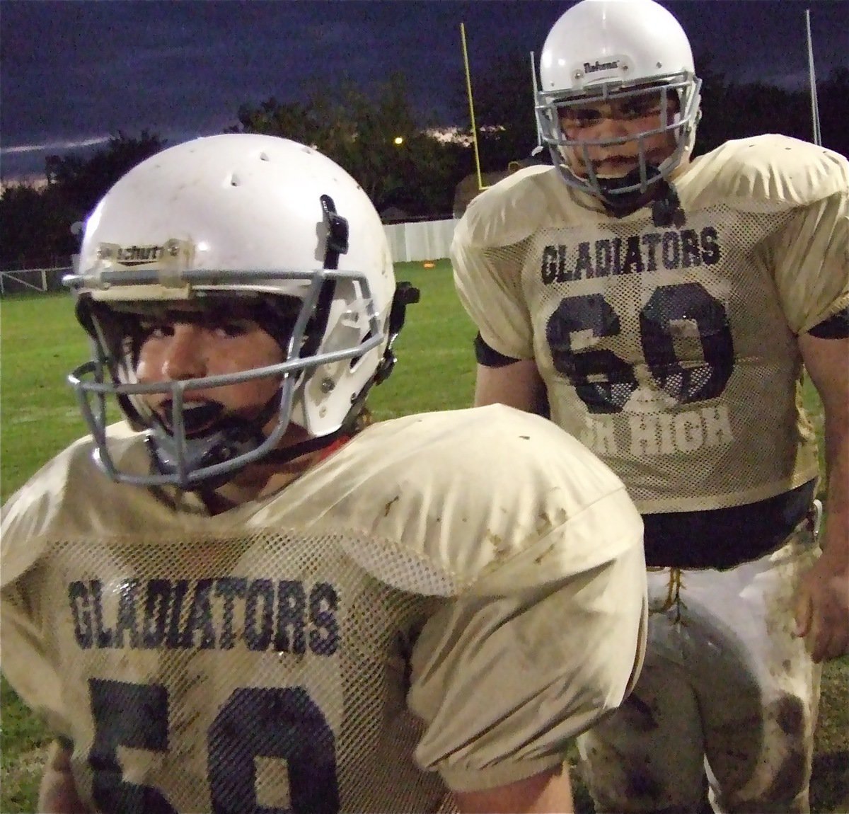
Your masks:
{"label": "helmeted head of the player wearing number 60, face included", "polygon": [[[537,121],[554,165],[615,214],[665,189],[693,148],[701,82],[681,26],[654,0],[582,0],[549,32],[540,74]],[[581,126],[582,111],[611,107],[617,127]],[[631,166],[599,172],[610,154]]]}

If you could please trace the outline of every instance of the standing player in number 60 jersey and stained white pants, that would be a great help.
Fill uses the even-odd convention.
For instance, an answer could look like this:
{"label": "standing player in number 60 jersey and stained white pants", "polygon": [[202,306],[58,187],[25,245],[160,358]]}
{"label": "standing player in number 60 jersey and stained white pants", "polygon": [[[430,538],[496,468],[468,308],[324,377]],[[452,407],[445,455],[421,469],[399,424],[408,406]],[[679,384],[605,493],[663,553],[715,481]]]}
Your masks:
{"label": "standing player in number 60 jersey and stained white pants", "polygon": [[652,0],[576,3],[540,76],[554,167],[476,198],[452,257],[476,403],[546,404],[644,518],[645,667],[579,739],[597,810],[696,811],[706,759],[716,811],[807,811],[849,642],[849,167],[776,135],[691,159],[700,80]]}

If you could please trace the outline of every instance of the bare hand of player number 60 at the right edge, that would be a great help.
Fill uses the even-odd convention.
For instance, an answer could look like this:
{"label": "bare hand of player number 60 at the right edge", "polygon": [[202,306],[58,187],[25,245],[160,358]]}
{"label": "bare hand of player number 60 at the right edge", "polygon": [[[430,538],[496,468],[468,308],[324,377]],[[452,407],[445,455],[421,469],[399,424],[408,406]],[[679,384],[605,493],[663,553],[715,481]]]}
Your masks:
{"label": "bare hand of player number 60 at the right edge", "polygon": [[843,546],[826,541],[822,556],[802,577],[795,632],[805,637],[816,662],[849,653],[849,555]]}

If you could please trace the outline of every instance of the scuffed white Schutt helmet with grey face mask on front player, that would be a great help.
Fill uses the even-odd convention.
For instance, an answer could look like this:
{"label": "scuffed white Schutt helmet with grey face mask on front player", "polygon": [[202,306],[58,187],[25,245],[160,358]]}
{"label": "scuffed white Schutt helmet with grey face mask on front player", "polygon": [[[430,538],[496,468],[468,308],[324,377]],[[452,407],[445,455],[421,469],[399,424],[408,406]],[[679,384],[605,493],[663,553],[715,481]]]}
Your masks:
{"label": "scuffed white Schutt helmet with grey face mask on front player", "polygon": [[[390,372],[405,303],[418,296],[406,285],[396,292],[380,217],[347,172],[310,147],[250,133],[178,144],[127,172],[88,218],[77,273],[66,282],[93,337],[94,359],[69,381],[98,466],[116,480],[181,489],[221,483],[260,458],[294,457],[349,428],[368,388]],[[278,340],[284,362],[138,383],[139,316],[167,315],[175,302],[219,313],[247,306]],[[260,420],[223,416],[193,432],[185,393],[263,376],[277,377],[279,388]],[[141,393],[164,394],[169,420],[152,415]],[[149,474],[115,466],[108,397],[148,432]],[[261,427],[274,415],[266,437]],[[275,448],[290,421],[311,439],[281,452]]]}

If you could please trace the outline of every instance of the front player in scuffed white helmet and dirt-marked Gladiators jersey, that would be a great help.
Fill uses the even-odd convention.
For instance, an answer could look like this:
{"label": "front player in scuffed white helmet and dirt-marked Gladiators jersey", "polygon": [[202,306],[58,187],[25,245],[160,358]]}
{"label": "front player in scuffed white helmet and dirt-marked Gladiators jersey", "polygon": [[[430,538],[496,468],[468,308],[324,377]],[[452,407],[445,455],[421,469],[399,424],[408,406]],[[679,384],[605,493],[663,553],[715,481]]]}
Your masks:
{"label": "front player in scuffed white helmet and dirt-marked Gladiators jersey", "polygon": [[39,811],[571,811],[565,745],[644,652],[642,522],[537,416],[363,428],[416,292],[353,179],[179,144],[105,195],[70,285],[91,435],[3,513]]}

